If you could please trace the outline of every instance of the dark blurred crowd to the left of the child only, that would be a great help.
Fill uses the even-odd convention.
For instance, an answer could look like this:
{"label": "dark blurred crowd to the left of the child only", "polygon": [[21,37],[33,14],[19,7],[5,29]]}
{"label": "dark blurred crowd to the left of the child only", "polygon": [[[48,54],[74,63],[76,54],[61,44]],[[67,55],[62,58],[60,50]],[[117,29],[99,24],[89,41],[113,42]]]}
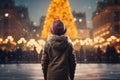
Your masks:
{"label": "dark blurred crowd to the left of the child only", "polygon": [[21,48],[15,51],[8,51],[0,49],[0,63],[38,63],[40,62],[40,54],[33,51],[23,51]]}

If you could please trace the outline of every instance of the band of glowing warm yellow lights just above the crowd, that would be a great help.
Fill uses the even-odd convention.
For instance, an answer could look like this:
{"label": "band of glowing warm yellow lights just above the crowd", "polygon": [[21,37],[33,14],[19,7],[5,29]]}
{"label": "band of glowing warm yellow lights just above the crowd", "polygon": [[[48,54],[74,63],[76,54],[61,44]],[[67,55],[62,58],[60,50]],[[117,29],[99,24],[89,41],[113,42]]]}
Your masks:
{"label": "band of glowing warm yellow lights just above the crowd", "polygon": [[[117,38],[116,36],[111,36],[107,39],[104,39],[103,37],[95,37],[94,39],[86,38],[86,39],[75,39],[72,41],[70,38],[69,42],[72,43],[75,50],[79,50],[81,46],[93,46],[94,48],[101,47],[103,50],[105,50],[105,47],[108,44],[114,44],[119,43],[120,38]],[[18,43],[18,44],[17,44]],[[45,45],[45,40],[35,40],[35,39],[29,39],[28,41],[25,38],[20,38],[17,43],[14,41],[14,38],[12,36],[8,36],[6,39],[0,38],[0,45],[4,44],[5,46],[2,46],[2,50],[15,50],[17,47],[19,47],[19,44],[24,44],[22,46],[22,50],[36,50],[38,54],[40,54],[41,50],[43,50]],[[116,50],[120,53],[120,46],[115,46]]]}

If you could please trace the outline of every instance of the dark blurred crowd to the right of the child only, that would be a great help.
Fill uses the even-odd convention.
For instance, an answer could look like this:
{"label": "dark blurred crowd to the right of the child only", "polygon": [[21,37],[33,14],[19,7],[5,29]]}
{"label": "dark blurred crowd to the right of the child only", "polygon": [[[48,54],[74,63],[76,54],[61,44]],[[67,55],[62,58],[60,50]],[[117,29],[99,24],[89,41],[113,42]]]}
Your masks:
{"label": "dark blurred crowd to the right of the child only", "polygon": [[107,45],[105,51],[100,47],[94,49],[82,46],[80,51],[76,51],[76,60],[78,63],[119,63],[120,54],[111,45]]}

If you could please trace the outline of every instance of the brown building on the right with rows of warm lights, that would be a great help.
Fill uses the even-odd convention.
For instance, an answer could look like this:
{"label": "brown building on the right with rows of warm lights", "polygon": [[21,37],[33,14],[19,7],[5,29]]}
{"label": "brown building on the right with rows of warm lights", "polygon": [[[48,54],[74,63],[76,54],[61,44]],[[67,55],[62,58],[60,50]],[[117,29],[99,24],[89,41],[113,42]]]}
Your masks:
{"label": "brown building on the right with rows of warm lights", "polygon": [[[108,44],[116,46],[120,44],[120,1],[104,0],[98,2],[97,9],[93,13],[93,37],[102,38],[98,43],[101,46]],[[97,43],[97,42],[96,42]]]}

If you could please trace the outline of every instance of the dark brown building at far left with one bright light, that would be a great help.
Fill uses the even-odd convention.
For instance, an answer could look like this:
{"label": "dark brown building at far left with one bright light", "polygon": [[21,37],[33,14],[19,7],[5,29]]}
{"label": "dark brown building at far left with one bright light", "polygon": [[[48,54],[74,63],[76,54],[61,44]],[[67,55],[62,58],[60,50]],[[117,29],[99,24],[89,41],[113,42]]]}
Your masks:
{"label": "dark brown building at far left with one bright light", "polygon": [[15,6],[13,0],[0,0],[0,38],[12,36],[15,41],[28,34],[29,17],[26,7]]}

